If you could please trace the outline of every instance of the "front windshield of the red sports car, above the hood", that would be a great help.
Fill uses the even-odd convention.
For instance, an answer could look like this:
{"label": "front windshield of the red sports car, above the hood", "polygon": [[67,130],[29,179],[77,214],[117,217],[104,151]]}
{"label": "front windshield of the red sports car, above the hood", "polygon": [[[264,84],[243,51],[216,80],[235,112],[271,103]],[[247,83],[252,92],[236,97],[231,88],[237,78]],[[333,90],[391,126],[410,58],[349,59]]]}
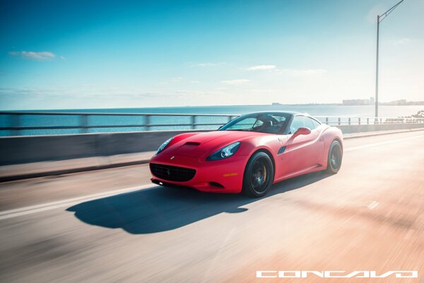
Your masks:
{"label": "front windshield of the red sports car, above the hood", "polygon": [[242,115],[223,125],[220,131],[248,131],[281,134],[288,122],[285,113],[253,113]]}

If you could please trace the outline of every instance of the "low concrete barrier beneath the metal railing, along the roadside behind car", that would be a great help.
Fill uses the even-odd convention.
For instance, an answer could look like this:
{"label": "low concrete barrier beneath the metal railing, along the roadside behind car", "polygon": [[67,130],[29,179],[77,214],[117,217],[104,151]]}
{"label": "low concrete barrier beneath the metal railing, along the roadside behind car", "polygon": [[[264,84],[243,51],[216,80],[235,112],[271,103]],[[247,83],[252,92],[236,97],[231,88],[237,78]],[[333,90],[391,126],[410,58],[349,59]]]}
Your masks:
{"label": "low concrete barrier beneath the metal railing, along the roadside behind car", "polygon": [[[343,133],[424,128],[424,124],[343,125]],[[155,151],[181,131],[0,137],[0,166]],[[206,132],[196,130],[195,132]]]}

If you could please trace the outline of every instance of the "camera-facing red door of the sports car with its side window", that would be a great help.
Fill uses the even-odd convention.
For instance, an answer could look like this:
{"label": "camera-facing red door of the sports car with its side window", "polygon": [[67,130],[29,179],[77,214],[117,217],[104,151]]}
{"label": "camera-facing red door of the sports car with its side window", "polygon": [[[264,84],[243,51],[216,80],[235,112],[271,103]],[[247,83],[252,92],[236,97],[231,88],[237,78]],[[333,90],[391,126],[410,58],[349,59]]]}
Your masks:
{"label": "camera-facing red door of the sports car with its side window", "polygon": [[[283,163],[282,175],[294,175],[316,166],[320,154],[324,149],[324,141],[319,140],[319,132],[315,129],[310,117],[298,115],[293,117],[288,139],[285,141],[285,150],[280,155]],[[310,134],[295,136],[295,132],[305,127],[311,130]]]}

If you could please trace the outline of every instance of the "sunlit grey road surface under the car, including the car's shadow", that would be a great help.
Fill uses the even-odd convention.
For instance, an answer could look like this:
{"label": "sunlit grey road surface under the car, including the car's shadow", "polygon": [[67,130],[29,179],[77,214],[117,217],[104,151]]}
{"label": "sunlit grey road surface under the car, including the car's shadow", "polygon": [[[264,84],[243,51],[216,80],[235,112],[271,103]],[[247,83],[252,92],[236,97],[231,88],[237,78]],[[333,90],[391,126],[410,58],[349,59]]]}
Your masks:
{"label": "sunlit grey road surface under the car, including the car's shadow", "polygon": [[423,165],[420,131],[346,140],[337,175],[285,180],[262,199],[157,187],[147,166],[1,183],[0,282],[423,282]]}

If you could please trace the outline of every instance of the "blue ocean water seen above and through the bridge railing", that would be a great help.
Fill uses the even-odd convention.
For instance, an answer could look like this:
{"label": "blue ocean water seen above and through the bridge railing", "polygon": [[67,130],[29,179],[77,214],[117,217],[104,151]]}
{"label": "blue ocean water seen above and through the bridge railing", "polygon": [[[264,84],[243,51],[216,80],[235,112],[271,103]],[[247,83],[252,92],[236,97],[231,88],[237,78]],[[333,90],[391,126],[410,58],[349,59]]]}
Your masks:
{"label": "blue ocean water seen above and through the bridge railing", "polygon": [[[42,110],[41,112],[93,112],[93,113],[178,113],[178,114],[228,114],[240,115],[249,112],[281,110],[305,112],[313,116],[339,116],[339,117],[373,117],[374,105],[230,105],[230,106],[196,106],[196,107],[170,107],[170,108],[114,108],[114,109],[69,109],[69,110]],[[379,117],[404,117],[424,110],[424,105],[407,106],[379,106]],[[74,126],[80,125],[78,116],[73,115],[23,115],[20,116],[20,127],[42,126]],[[198,123],[225,124],[227,117],[197,117]],[[88,125],[143,125],[146,120],[143,116],[102,116],[92,115],[88,118]],[[151,124],[188,124],[189,117],[152,116]],[[0,112],[0,136],[34,135],[34,134],[79,134],[81,129],[28,129],[10,131],[1,127],[16,125],[12,115]],[[215,129],[219,126],[199,126],[198,128]],[[151,127],[151,130],[188,129],[184,126]],[[143,131],[144,127],[107,127],[91,128],[86,132],[131,132]]]}

